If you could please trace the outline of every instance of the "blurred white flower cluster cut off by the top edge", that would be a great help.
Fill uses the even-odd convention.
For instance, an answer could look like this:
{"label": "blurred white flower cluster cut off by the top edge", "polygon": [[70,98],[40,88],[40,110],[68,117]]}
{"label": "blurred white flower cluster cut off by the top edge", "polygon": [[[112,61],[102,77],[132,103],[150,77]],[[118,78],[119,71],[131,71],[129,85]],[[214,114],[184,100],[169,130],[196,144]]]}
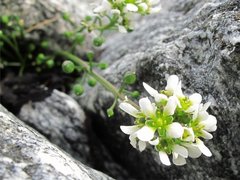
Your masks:
{"label": "blurred white flower cluster cut off by the top edge", "polygon": [[157,13],[160,11],[160,0],[102,0],[93,12],[99,15],[114,15],[120,32],[131,30],[130,17],[134,13],[141,15]]}

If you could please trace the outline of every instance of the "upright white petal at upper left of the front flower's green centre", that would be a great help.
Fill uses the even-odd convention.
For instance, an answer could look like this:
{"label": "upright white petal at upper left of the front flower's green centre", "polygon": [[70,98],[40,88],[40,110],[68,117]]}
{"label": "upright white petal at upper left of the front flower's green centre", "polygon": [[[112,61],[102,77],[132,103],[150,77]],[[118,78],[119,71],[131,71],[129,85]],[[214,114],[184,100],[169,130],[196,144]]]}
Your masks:
{"label": "upright white petal at upper left of the front flower's green centre", "polygon": [[156,107],[147,97],[139,100],[139,106],[145,116],[149,117],[155,115]]}

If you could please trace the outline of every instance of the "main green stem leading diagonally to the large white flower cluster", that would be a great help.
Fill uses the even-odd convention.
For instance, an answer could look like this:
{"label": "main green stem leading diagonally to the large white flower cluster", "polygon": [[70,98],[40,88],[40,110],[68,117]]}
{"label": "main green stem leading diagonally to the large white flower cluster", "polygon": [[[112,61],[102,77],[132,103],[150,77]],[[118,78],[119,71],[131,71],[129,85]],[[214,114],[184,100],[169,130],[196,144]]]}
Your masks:
{"label": "main green stem leading diagonally to the large white flower cluster", "polygon": [[[99,75],[98,73],[94,72],[93,70],[91,70],[91,67],[82,59],[74,56],[73,54],[66,52],[66,51],[61,51],[58,52],[58,54],[65,56],[66,58],[72,60],[74,63],[80,65],[83,67],[83,69],[93,78],[95,78],[103,87],[105,87],[108,91],[112,92],[113,95],[117,98],[119,98],[122,101],[125,101],[125,96],[124,94],[120,93],[119,90],[112,84],[110,83],[108,80],[106,80],[104,77],[102,77],[101,75]],[[139,106],[134,103],[131,100],[127,100],[127,102],[129,104],[131,104],[132,106],[134,106],[137,109],[140,109]]]}

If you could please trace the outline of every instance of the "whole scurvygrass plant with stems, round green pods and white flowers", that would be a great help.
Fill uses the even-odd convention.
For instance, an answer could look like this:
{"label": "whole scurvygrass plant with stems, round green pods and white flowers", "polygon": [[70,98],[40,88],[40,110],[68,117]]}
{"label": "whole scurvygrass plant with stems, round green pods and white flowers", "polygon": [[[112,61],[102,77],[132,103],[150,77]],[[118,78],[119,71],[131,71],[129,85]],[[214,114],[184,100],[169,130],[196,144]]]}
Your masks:
{"label": "whole scurvygrass plant with stems, round green pods and white flowers", "polygon": [[[198,93],[190,96],[184,95],[181,90],[181,81],[176,75],[169,76],[167,86],[162,91],[157,91],[143,83],[151,98],[141,98],[137,105],[129,97],[138,98],[140,93],[136,90],[132,92],[127,90],[128,85],[136,82],[134,72],[127,72],[121,86],[117,88],[95,71],[95,68],[106,69],[107,64],[96,62],[92,51],[86,51],[85,59],[75,55],[76,47],[84,45],[86,33],[94,34],[92,45],[99,47],[105,42],[105,31],[130,32],[133,30],[132,15],[147,15],[156,13],[160,9],[159,0],[102,0],[101,4],[93,9],[93,15],[86,16],[80,25],[76,25],[69,14],[64,13],[62,18],[76,27],[73,31],[63,34],[72,43],[72,46],[67,50],[54,49],[46,51],[46,53],[36,53],[36,47],[43,49],[49,47],[48,41],[44,40],[37,46],[29,44],[27,56],[21,54],[17,40],[24,38],[27,33],[31,33],[40,25],[57,19],[46,20],[26,29],[18,17],[14,16],[9,19],[8,16],[1,16],[0,20],[6,30],[0,30],[0,47],[6,55],[11,57],[11,53],[4,48],[10,47],[20,62],[10,63],[7,59],[3,59],[0,68],[11,64],[20,64],[19,74],[22,75],[25,67],[29,65],[29,59],[34,60],[31,63],[33,66],[47,65],[49,68],[56,65],[57,57],[66,59],[62,63],[65,73],[81,73],[80,81],[75,83],[72,88],[76,95],[84,93],[86,82],[91,87],[99,83],[115,98],[112,106],[107,110],[109,117],[114,115],[114,108],[120,101],[119,107],[135,118],[133,126],[120,127],[125,134],[129,135],[130,144],[134,148],[143,151],[147,146],[153,146],[159,153],[161,162],[165,165],[171,164],[170,155],[172,155],[172,162],[176,165],[184,165],[188,157],[197,158],[201,154],[211,156],[210,150],[202,141],[202,139],[211,139],[210,132],[217,128],[216,118],[207,112],[210,103],[203,104],[202,97]],[[14,26],[13,23],[15,23]],[[154,101],[152,102],[150,99],[154,99]]]}

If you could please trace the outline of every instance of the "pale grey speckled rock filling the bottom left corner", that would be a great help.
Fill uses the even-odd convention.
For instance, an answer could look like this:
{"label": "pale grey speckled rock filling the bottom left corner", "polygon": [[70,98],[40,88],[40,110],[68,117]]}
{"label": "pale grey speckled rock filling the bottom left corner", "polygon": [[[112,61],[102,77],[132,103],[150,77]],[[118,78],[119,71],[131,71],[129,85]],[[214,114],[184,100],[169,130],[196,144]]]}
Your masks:
{"label": "pale grey speckled rock filling the bottom left corner", "polygon": [[0,105],[0,179],[112,179],[72,159]]}

